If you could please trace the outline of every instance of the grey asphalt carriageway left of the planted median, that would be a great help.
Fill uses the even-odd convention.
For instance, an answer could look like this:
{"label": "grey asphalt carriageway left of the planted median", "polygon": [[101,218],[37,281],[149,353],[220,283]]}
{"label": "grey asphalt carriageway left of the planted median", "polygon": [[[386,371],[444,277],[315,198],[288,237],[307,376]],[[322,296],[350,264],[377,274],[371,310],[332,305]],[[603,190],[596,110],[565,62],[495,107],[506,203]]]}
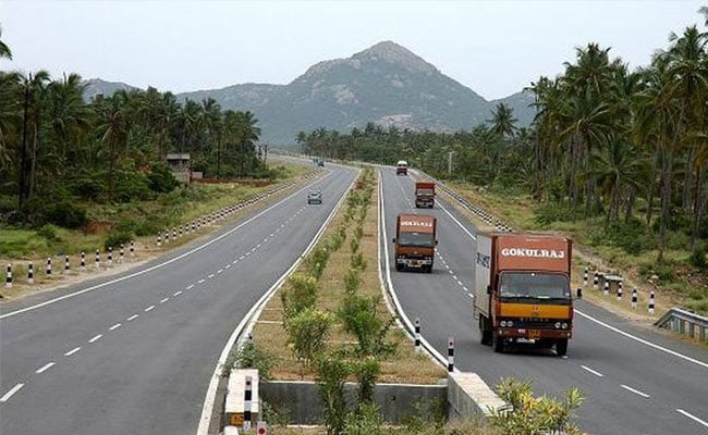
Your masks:
{"label": "grey asphalt carriageway left of the planted median", "polygon": [[306,206],[305,188],[138,276],[16,314],[90,284],[0,304],[0,433],[194,435],[232,331],[355,176],[326,171],[321,206]]}

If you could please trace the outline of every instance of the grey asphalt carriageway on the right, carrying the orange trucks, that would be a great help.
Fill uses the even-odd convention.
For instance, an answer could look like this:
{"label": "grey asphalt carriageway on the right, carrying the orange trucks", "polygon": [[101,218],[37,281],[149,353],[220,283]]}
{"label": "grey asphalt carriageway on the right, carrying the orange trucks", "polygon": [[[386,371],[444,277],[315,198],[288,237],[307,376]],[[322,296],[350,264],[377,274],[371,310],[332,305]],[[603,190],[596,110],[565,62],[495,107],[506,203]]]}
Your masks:
{"label": "grey asphalt carriageway on the right, carrying the orange trucks", "polygon": [[586,400],[576,421],[590,434],[708,434],[705,347],[638,328],[582,300],[575,304],[574,337],[566,358],[521,345],[493,353],[480,345],[472,319],[475,226],[442,201],[434,210],[416,210],[412,177],[396,176],[393,169],[383,169],[381,174],[384,240],[390,250],[398,213],[438,219],[432,274],[396,272],[392,257],[382,266],[390,266],[404,312],[411,320],[420,318],[423,336],[441,355],[447,355],[448,337],[455,338],[457,369],[478,373],[490,386],[508,376],[530,380],[537,393],[557,397],[577,387]]}

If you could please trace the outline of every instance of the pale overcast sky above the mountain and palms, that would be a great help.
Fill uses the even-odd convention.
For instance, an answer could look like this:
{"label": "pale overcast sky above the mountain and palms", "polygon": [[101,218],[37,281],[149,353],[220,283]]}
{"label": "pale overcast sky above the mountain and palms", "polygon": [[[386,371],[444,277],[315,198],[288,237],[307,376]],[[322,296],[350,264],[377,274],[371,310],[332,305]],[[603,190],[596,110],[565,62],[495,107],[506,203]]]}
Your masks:
{"label": "pale overcast sky above the mountain and palms", "polygon": [[402,45],[491,100],[556,76],[590,41],[631,67],[708,0],[168,1],[0,0],[0,70],[78,73],[173,92],[288,84],[379,41]]}

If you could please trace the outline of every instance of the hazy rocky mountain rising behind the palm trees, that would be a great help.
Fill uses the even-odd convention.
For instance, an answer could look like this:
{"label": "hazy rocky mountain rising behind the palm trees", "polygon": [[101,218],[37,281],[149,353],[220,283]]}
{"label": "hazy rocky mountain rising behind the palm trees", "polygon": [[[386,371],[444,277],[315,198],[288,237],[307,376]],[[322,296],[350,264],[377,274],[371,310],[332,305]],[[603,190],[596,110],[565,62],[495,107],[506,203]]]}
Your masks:
{"label": "hazy rocky mountain rising behind the palm trees", "polygon": [[487,101],[391,41],[347,59],[319,62],[288,85],[242,84],[178,94],[181,100],[208,97],[223,109],[254,112],[261,141],[278,145],[294,142],[302,130],[346,132],[367,122],[410,129],[468,129],[488,120],[497,102],[514,108],[520,126],[528,125],[534,115],[526,107],[533,101],[527,92]]}

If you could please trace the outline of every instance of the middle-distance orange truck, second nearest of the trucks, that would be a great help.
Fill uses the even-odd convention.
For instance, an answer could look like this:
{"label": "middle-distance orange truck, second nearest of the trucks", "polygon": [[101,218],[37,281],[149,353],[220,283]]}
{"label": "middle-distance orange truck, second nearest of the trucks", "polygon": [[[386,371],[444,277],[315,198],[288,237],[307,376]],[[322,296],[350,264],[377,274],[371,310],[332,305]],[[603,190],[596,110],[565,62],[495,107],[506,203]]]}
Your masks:
{"label": "middle-distance orange truck, second nearest of the trucks", "polygon": [[395,220],[395,270],[417,269],[432,272],[436,219],[427,214],[399,214]]}

